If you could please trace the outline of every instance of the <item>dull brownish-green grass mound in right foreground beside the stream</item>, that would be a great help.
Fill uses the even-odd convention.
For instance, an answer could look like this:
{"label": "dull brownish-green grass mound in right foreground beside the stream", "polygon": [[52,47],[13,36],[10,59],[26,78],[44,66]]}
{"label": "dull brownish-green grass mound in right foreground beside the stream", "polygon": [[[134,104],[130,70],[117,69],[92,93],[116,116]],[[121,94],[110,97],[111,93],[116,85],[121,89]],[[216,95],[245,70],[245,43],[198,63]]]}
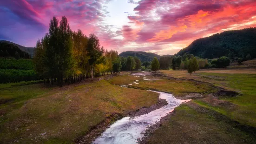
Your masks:
{"label": "dull brownish-green grass mound in right foreground beside the stream", "polygon": [[193,102],[175,108],[148,144],[255,144],[254,133],[241,131],[229,118]]}

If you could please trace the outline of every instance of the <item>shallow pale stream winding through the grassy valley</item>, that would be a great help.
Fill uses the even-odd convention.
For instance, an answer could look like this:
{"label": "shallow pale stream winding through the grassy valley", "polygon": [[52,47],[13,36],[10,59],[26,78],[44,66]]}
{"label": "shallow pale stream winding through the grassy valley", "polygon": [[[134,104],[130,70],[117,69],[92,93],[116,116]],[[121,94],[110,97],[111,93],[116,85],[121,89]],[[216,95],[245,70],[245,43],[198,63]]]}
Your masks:
{"label": "shallow pale stream winding through the grassy valley", "polygon": [[[144,76],[144,74],[139,76]],[[138,80],[132,83],[132,85],[133,84],[138,84]],[[126,87],[126,85],[122,85],[122,87]],[[172,112],[175,107],[184,102],[190,101],[190,99],[177,99],[172,94],[165,92],[157,93],[160,94],[159,98],[165,99],[168,102],[167,105],[138,117],[125,117],[116,121],[107,130],[105,130],[105,132],[103,132],[102,135],[93,142],[93,144],[137,144],[138,138],[144,136],[143,133],[149,126],[157,123],[162,117]]]}

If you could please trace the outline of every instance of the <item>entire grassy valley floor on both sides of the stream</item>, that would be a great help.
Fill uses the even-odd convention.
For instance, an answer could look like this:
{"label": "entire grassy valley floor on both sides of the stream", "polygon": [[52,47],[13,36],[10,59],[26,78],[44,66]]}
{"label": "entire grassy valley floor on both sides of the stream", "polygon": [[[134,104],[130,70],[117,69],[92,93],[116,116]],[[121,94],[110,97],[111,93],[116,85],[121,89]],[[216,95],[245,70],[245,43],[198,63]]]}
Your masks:
{"label": "entire grassy valley floor on both sides of the stream", "polygon": [[[191,76],[167,70],[141,77],[128,74],[62,88],[1,84],[0,143],[76,143],[99,124],[107,127],[132,111],[157,104],[158,94],[145,90],[193,101],[175,108],[140,143],[256,143],[255,69],[206,70]],[[128,85],[135,80],[139,84]]]}

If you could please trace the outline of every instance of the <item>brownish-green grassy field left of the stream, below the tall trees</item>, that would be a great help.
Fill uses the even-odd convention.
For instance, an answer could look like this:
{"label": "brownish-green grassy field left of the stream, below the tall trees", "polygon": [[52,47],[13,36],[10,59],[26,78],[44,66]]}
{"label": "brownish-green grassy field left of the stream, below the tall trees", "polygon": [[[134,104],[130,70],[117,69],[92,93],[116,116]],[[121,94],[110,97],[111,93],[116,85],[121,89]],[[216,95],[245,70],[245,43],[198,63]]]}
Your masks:
{"label": "brownish-green grassy field left of the stream, below the tall trees", "polygon": [[72,143],[113,113],[158,102],[158,94],[105,80],[62,88],[0,85],[1,143]]}

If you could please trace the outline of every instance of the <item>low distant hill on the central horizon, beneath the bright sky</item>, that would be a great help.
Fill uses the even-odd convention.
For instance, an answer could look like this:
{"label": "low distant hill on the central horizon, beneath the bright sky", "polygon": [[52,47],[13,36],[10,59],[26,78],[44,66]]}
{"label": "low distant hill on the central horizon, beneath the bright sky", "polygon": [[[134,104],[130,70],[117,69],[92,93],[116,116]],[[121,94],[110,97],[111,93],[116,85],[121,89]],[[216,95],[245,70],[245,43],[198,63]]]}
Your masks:
{"label": "low distant hill on the central horizon, beneath the bright sky", "polygon": [[[160,59],[160,55],[152,52],[134,52],[134,51],[126,51],[119,54],[121,57],[128,57],[128,56],[137,56],[142,62],[144,61],[152,61],[154,57],[157,57]],[[165,56],[171,56],[171,55],[165,55]]]}

